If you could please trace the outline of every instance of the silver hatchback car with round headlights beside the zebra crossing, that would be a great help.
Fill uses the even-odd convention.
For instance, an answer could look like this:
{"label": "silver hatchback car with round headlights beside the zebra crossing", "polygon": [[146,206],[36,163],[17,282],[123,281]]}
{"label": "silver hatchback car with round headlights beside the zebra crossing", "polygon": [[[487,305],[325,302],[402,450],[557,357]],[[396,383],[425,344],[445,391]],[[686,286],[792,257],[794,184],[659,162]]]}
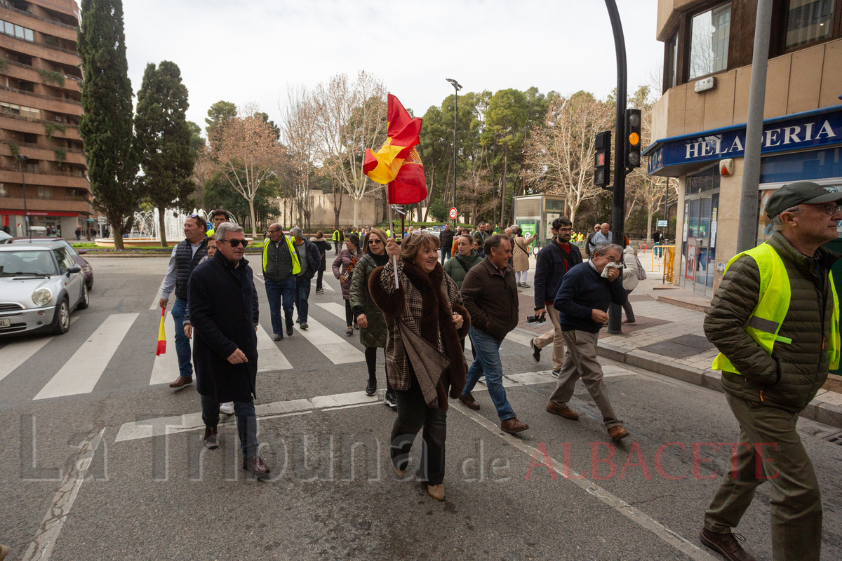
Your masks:
{"label": "silver hatchback car with round headlights beside the zebra crossing", "polygon": [[0,335],[70,329],[90,304],[82,267],[60,243],[0,246]]}

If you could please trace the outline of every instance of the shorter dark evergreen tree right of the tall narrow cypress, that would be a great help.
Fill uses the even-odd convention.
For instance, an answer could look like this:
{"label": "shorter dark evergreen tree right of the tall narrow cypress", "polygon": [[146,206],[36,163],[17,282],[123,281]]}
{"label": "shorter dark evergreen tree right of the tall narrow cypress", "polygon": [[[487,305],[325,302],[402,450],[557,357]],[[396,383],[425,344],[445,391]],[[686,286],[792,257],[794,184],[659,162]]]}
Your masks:
{"label": "shorter dark evergreen tree right of the tall narrow cypress", "polygon": [[167,246],[164,209],[178,205],[186,209],[195,189],[191,178],[195,151],[185,113],[187,87],[174,62],[163,61],[157,69],[147,65],[137,93],[135,115],[136,152],[143,168],[138,179],[141,196],[157,206],[161,246]]}

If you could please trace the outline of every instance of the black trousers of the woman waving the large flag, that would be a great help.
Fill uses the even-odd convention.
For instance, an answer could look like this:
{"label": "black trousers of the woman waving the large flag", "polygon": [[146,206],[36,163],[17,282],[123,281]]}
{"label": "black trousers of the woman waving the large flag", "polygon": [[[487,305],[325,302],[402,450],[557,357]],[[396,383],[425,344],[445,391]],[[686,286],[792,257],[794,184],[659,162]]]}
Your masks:
{"label": "black trousers of the woman waving the large flag", "polygon": [[447,412],[427,405],[412,366],[409,373],[412,378],[409,389],[395,390],[397,418],[392,425],[392,463],[398,469],[407,468],[413,441],[424,426],[421,435],[421,464],[416,476],[428,485],[439,485],[445,480]]}

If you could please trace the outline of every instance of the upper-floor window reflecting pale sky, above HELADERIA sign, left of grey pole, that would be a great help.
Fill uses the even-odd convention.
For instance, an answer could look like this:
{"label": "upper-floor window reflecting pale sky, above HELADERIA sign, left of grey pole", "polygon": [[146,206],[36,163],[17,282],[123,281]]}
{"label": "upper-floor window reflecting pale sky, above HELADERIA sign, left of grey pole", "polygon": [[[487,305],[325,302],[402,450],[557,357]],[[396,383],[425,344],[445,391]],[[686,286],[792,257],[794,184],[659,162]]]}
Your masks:
{"label": "upper-floor window reflecting pale sky, above HELADERIA sign, left of grey pole", "polygon": [[730,33],[730,3],[693,17],[690,31],[690,80],[727,68]]}

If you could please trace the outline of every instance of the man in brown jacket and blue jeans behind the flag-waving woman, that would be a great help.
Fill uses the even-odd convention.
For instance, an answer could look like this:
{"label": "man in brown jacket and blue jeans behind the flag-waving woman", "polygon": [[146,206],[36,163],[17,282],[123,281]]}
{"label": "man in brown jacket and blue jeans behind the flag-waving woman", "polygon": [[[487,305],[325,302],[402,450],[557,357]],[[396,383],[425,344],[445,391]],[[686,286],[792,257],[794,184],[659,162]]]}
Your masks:
{"label": "man in brown jacket and blue jeans behind the flag-waving woman", "polygon": [[459,400],[471,409],[479,409],[471,390],[484,374],[488,394],[500,417],[500,428],[514,434],[525,431],[529,425],[518,421],[506,399],[500,362],[500,344],[518,325],[518,288],[514,284],[514,271],[509,267],[512,257],[509,236],[488,236],[483,251],[485,259],[472,267],[462,281],[462,300],[471,315],[471,341],[477,357],[468,370]]}

